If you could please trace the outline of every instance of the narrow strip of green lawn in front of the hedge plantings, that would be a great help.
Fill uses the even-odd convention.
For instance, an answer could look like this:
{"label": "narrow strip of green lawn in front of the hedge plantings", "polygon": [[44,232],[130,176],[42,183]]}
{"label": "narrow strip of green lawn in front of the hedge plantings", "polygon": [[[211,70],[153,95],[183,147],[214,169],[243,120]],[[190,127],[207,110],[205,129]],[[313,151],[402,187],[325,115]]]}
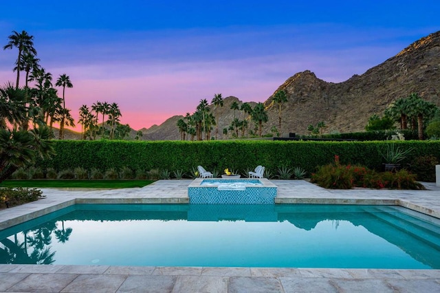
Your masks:
{"label": "narrow strip of green lawn in front of the hedge plantings", "polygon": [[131,188],[153,182],[154,180],[5,180],[0,183],[0,187]]}

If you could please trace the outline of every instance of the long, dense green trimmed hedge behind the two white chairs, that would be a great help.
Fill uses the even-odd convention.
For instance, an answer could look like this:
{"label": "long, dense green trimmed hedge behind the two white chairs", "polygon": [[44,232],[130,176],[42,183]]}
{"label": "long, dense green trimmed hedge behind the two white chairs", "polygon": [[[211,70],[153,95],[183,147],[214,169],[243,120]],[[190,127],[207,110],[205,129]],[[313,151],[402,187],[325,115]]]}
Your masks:
{"label": "long, dense green trimmed hedge behind the two white chairs", "polygon": [[341,164],[360,164],[380,170],[380,150],[395,143],[402,149],[414,149],[402,162],[410,164],[421,155],[434,155],[440,160],[440,140],[377,141],[377,142],[310,142],[310,141],[114,141],[114,140],[54,140],[56,156],[52,160],[37,162],[42,169],[56,171],[83,167],[105,171],[120,170],[127,166],[133,170],[159,169],[189,172],[197,165],[207,170],[223,169],[243,171],[263,165],[274,172],[278,167],[301,167],[313,173],[318,166],[333,162],[340,156]]}

